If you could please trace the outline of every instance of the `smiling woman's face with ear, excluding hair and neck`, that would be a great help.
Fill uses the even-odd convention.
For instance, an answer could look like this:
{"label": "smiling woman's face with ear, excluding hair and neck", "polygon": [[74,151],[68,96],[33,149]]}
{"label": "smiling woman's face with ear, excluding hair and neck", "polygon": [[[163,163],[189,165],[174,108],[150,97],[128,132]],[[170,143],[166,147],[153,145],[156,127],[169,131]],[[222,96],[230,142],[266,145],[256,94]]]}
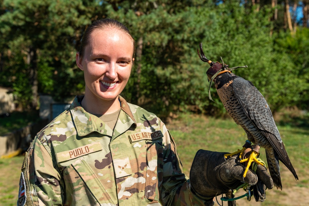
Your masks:
{"label": "smiling woman's face with ear, excluding hair and neck", "polygon": [[95,29],[85,46],[84,56],[76,54],[76,64],[84,71],[85,96],[114,100],[126,86],[134,59],[131,38],[119,29]]}

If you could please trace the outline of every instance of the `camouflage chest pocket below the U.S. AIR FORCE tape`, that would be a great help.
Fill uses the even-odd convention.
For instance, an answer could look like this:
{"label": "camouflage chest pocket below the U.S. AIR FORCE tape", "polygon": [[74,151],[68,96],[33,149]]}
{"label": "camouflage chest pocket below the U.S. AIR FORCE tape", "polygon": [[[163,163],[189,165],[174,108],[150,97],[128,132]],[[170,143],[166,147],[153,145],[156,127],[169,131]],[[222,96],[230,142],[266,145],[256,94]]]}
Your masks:
{"label": "camouflage chest pocket below the U.S. AIR FORCE tape", "polygon": [[[145,184],[145,198],[159,201],[159,179],[161,170],[159,168],[163,156],[163,147],[157,142],[147,142],[147,175]],[[159,167],[158,167],[159,166]],[[163,175],[163,174],[162,174]]]}

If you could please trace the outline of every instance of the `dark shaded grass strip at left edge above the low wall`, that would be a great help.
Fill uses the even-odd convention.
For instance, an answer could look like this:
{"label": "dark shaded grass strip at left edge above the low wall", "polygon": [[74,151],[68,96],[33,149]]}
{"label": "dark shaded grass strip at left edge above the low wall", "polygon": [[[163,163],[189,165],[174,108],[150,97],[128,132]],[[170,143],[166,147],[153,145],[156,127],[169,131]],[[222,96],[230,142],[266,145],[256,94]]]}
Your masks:
{"label": "dark shaded grass strip at left edge above the low wall", "polygon": [[10,116],[0,117],[0,135],[4,135],[13,130],[23,128],[32,122],[38,121],[36,112],[13,112]]}

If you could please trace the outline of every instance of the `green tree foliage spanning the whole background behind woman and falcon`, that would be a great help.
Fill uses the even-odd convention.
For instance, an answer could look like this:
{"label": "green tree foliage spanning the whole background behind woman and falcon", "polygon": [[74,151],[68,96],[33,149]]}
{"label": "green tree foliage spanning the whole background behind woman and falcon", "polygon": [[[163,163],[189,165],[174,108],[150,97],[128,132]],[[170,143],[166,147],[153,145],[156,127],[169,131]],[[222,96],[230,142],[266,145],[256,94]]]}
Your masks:
{"label": "green tree foliage spanning the whole background behind woman and falcon", "polygon": [[248,65],[236,75],[250,80],[273,112],[294,105],[307,108],[308,29],[299,28],[295,36],[285,32],[271,36],[272,9],[264,1],[259,11],[236,0],[5,0],[1,9],[1,85],[13,87],[23,107],[32,98],[29,48],[37,54],[39,93],[59,101],[82,94],[84,78],[75,65],[75,52],[87,25],[111,17],[142,41],[142,55],[135,57],[122,93],[129,102],[163,117],[174,110],[225,113],[214,86],[214,102],[208,99],[209,65],[196,52],[203,42],[208,59],[220,61],[222,56],[230,67]]}

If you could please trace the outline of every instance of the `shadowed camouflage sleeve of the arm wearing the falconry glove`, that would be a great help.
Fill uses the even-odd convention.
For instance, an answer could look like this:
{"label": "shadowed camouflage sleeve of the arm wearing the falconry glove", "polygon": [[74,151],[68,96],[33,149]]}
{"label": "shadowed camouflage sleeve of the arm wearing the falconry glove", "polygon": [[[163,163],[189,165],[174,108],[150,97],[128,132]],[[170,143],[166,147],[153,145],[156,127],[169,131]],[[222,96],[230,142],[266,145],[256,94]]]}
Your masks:
{"label": "shadowed camouflage sleeve of the arm wearing the falconry glove", "polygon": [[198,206],[211,201],[212,205],[212,200],[201,199],[191,191],[190,180],[182,171],[174,139],[169,131],[167,134],[168,136],[164,137],[167,138],[165,141],[167,149],[164,152],[161,202],[165,205]]}

